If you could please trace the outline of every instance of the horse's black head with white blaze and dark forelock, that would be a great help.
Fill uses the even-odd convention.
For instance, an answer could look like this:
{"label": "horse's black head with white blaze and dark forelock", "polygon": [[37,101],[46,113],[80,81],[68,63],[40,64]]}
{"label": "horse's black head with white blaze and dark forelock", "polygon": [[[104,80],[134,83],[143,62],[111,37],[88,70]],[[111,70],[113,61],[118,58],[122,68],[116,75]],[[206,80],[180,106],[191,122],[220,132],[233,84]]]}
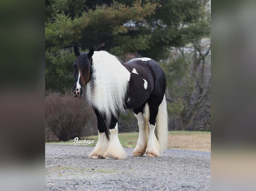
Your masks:
{"label": "horse's black head with white blaze and dark forelock", "polygon": [[73,87],[73,93],[75,97],[80,98],[83,90],[82,87],[85,86],[91,77],[91,66],[93,63],[93,53],[94,49],[91,48],[89,53],[82,52],[80,53],[78,48],[74,47],[75,55],[77,56],[76,61],[73,64],[74,73],[73,76],[75,78],[75,84]]}

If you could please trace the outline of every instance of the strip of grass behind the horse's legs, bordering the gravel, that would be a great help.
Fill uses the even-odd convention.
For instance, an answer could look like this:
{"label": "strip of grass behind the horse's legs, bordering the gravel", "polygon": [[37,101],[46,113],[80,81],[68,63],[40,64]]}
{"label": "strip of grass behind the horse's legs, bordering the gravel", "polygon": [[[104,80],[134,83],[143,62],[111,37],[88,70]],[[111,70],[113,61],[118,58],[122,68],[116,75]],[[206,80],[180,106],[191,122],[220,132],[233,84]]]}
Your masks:
{"label": "strip of grass behind the horse's legs, bordering the gravel", "polygon": [[[139,133],[119,133],[119,140],[123,147],[134,148],[136,146]],[[81,137],[79,140],[95,140],[95,143],[87,146],[95,146],[98,135]],[[47,142],[45,144],[75,145],[74,140]],[[169,131],[167,148],[181,150],[211,151],[211,132],[209,131]]]}

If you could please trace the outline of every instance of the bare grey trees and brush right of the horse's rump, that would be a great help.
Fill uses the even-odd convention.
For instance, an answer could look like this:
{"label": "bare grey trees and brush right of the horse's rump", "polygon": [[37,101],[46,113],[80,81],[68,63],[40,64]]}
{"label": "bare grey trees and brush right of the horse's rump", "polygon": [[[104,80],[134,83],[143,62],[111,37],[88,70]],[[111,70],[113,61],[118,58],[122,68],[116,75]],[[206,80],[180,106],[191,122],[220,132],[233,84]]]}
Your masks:
{"label": "bare grey trees and brush right of the horse's rump", "polygon": [[[161,63],[167,78],[168,111],[177,130],[210,130],[210,40],[175,48]],[[196,120],[195,120],[196,119]]]}

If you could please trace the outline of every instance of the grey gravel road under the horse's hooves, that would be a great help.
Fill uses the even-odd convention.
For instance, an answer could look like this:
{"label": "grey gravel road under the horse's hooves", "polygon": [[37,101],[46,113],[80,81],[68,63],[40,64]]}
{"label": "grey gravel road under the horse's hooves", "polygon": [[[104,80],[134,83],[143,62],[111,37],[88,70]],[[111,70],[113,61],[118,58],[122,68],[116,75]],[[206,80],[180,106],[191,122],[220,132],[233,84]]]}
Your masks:
{"label": "grey gravel road under the horse's hooves", "polygon": [[92,146],[45,144],[45,190],[211,190],[211,152],[89,159]]}

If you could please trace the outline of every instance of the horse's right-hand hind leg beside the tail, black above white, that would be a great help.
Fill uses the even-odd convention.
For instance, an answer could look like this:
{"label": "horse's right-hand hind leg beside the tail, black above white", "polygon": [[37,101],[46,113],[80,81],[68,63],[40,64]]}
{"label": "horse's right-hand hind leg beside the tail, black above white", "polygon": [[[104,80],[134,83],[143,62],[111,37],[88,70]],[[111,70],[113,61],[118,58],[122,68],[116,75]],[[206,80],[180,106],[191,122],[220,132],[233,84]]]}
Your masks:
{"label": "horse's right-hand hind leg beside the tail, black above white", "polygon": [[149,118],[149,135],[148,135],[148,143],[147,143],[147,148],[146,148],[146,154],[151,157],[156,157],[159,156],[159,150],[160,150],[160,145],[156,139],[155,136],[155,127],[156,127],[156,116],[158,113],[158,106],[159,104],[153,100],[149,101],[149,113],[150,113],[150,118]]}

